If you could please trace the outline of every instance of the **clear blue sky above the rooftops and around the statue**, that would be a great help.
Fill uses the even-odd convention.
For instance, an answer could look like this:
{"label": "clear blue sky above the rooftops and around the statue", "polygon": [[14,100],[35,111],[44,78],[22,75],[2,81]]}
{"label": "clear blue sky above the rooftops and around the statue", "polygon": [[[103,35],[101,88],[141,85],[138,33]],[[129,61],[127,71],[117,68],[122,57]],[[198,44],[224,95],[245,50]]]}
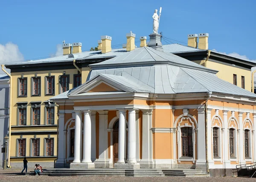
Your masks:
{"label": "clear blue sky above the rooftops and around the statue", "polygon": [[2,56],[0,63],[58,54],[62,50],[56,46],[63,40],[81,42],[85,51],[97,46],[101,35],[111,36],[112,45],[126,43],[130,31],[137,38],[148,36],[154,9],[160,6],[159,31],[164,37],[186,45],[187,34],[209,33],[209,49],[256,60],[255,0],[5,0],[0,52],[11,42],[18,56],[8,51],[8,60]]}

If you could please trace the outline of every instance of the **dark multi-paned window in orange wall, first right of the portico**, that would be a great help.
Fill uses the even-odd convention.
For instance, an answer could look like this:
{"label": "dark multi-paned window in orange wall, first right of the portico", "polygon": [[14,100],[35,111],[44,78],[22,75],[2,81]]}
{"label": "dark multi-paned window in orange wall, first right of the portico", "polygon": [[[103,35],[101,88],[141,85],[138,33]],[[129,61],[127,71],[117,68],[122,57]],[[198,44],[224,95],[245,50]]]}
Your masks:
{"label": "dark multi-paned window in orange wall, first right of the portico", "polygon": [[192,128],[181,128],[182,156],[193,157]]}

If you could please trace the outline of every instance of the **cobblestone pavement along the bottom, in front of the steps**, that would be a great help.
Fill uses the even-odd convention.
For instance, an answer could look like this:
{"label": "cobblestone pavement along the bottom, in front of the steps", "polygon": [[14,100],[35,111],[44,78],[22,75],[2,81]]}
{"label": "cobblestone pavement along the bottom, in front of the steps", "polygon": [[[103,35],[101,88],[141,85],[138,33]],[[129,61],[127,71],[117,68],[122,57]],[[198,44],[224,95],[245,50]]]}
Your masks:
{"label": "cobblestone pavement along the bottom, in front of the steps", "polygon": [[[0,182],[253,182],[255,178],[241,177],[55,177],[55,176],[24,176],[21,170],[8,169],[0,170]],[[30,170],[28,170],[30,171]]]}

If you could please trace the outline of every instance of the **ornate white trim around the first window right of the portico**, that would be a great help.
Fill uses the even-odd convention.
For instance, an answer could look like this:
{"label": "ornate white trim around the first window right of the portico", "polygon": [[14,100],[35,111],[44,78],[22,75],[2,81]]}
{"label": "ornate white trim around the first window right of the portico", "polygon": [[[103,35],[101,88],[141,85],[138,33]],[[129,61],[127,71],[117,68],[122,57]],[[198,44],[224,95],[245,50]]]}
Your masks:
{"label": "ornate white trim around the first window right of the portico", "polygon": [[[188,119],[189,122],[192,125],[188,125],[187,123],[185,123],[185,125],[180,125],[180,123],[182,123],[183,119]],[[192,128],[192,141],[193,141],[193,157],[188,157],[186,159],[186,157],[182,156],[182,145],[181,145],[181,128],[183,127],[191,127]],[[177,143],[178,143],[178,159],[177,161],[180,163],[180,161],[192,161],[193,163],[195,163],[195,135],[196,135],[196,131],[195,131],[195,126],[194,126],[194,122],[192,122],[190,117],[182,117],[180,119],[180,122],[178,123],[177,126]]]}

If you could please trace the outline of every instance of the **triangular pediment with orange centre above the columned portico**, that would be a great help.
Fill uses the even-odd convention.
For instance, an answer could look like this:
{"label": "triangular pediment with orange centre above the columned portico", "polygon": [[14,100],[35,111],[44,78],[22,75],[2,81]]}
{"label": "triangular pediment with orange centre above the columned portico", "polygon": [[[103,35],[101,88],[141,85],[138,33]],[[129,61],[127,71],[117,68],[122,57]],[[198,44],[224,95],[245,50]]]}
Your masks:
{"label": "triangular pediment with orange centre above the columned portico", "polygon": [[70,92],[69,95],[76,95],[87,92],[115,93],[117,91],[136,92],[133,88],[128,88],[125,86],[125,82],[118,82],[117,80],[105,77],[104,75],[100,74]]}

